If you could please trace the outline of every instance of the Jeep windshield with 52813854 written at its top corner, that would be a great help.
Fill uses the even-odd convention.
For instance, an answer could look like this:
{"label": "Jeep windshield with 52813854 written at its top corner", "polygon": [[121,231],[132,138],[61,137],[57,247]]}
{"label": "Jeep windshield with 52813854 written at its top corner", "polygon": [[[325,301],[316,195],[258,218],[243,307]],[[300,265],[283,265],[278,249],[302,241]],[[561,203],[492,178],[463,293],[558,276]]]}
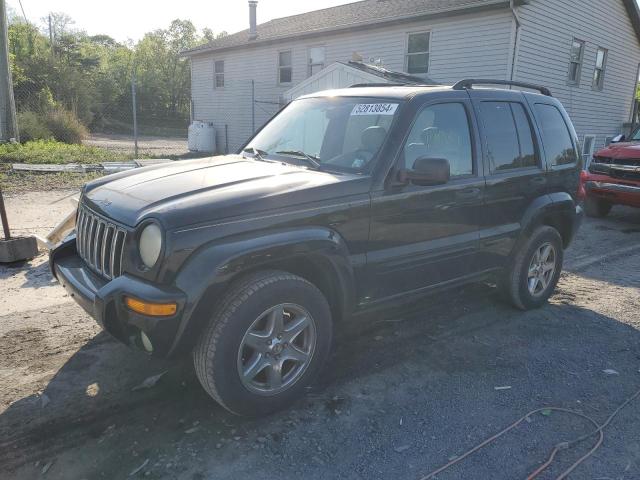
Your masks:
{"label": "Jeep windshield with 52813854 written at its top corner", "polygon": [[262,159],[361,173],[385,142],[398,101],[323,97],[292,102],[245,147]]}

